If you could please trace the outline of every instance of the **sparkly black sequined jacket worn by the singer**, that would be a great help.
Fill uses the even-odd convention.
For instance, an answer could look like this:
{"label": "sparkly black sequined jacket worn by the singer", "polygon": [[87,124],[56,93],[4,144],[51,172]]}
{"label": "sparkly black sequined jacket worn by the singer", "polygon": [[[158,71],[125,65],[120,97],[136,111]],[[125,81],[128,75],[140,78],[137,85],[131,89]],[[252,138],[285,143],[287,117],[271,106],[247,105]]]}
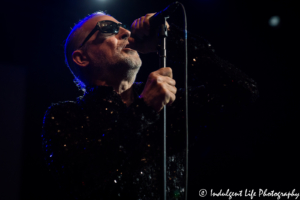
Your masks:
{"label": "sparkly black sequined jacket worn by the singer", "polygon": [[[169,34],[170,64],[180,65],[182,33],[173,27]],[[190,143],[197,145],[201,124],[217,125],[220,116],[234,115],[258,92],[252,79],[217,57],[203,38],[189,35],[188,48]],[[162,116],[138,98],[143,87],[133,85],[135,100],[129,107],[112,87],[90,86],[76,101],[48,108],[45,160],[70,199],[162,199]],[[183,94],[179,89],[167,108],[168,199],[184,197]]]}

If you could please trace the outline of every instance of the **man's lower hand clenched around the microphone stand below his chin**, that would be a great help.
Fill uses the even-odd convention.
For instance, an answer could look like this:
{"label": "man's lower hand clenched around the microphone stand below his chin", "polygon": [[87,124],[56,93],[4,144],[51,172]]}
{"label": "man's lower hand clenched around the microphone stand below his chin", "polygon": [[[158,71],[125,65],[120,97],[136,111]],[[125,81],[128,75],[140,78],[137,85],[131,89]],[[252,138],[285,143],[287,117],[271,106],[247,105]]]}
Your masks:
{"label": "man's lower hand clenched around the microphone stand below his chin", "polygon": [[177,92],[175,84],[172,69],[170,67],[160,68],[149,75],[140,98],[143,98],[148,106],[159,112],[164,105],[171,105],[175,101]]}

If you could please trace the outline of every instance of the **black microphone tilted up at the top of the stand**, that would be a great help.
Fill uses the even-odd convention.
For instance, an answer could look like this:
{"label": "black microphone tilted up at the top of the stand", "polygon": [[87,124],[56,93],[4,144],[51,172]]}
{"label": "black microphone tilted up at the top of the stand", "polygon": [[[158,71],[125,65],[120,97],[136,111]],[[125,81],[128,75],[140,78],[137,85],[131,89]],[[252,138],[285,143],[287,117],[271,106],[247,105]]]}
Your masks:
{"label": "black microphone tilted up at the top of the stand", "polygon": [[179,2],[175,1],[172,4],[170,4],[168,7],[166,7],[164,10],[156,13],[152,17],[149,18],[150,23],[150,29],[155,29],[158,26],[160,26],[164,21],[165,17],[169,17],[172,12],[176,10],[176,8],[179,6]]}

